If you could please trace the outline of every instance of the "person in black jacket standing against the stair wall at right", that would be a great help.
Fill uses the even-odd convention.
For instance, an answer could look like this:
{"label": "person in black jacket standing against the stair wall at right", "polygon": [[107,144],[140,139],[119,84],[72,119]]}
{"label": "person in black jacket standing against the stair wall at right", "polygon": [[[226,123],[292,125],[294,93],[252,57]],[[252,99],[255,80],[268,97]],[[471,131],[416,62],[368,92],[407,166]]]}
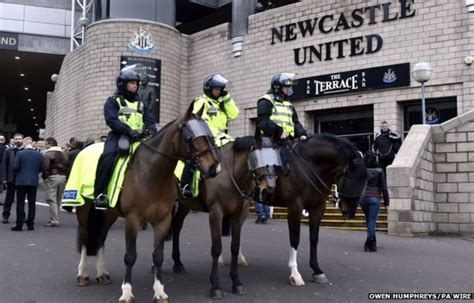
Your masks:
{"label": "person in black jacket standing against the stair wall at right", "polygon": [[375,134],[372,148],[377,154],[380,167],[385,175],[387,175],[387,166],[392,164],[401,145],[400,136],[389,128],[387,121],[382,121],[380,132]]}

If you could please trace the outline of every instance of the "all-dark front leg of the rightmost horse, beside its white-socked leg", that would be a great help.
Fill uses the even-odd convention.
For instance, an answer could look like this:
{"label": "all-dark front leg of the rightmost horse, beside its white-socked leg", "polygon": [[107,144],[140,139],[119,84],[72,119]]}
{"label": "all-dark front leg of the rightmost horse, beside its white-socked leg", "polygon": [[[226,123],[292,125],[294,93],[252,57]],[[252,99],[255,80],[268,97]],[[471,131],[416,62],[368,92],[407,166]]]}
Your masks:
{"label": "all-dark front leg of the rightmost horse, beside its white-socked leg", "polygon": [[315,283],[329,283],[328,278],[324,272],[319,268],[318,264],[318,241],[319,241],[319,223],[323,217],[325,210],[324,202],[321,206],[309,212],[309,265],[313,269],[313,282]]}

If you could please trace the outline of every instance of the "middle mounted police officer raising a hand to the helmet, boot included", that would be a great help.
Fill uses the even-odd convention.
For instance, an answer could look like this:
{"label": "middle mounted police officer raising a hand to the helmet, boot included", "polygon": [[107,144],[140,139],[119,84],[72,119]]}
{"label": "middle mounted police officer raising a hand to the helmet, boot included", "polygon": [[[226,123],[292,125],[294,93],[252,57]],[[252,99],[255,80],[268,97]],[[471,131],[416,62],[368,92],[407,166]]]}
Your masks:
{"label": "middle mounted police officer raising a hand to the helmet, boot included", "polygon": [[[226,90],[229,81],[221,74],[208,76],[203,83],[204,94],[194,99],[193,113],[197,113],[203,106],[202,119],[206,121],[214,136],[217,147],[221,147],[233,139],[228,134],[228,122],[239,116],[239,109],[235,105],[234,99]],[[195,167],[186,164],[181,177],[181,189],[184,197],[192,197],[189,183],[194,174]]]}

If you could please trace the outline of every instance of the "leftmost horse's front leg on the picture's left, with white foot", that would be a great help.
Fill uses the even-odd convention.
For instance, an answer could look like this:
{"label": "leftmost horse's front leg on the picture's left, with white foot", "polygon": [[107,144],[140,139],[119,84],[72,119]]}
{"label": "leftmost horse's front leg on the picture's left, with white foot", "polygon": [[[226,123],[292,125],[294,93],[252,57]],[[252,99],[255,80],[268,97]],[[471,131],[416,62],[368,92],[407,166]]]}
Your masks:
{"label": "leftmost horse's front leg on the picture's left, with white foot", "polygon": [[133,302],[134,296],[132,293],[132,268],[137,261],[137,234],[140,227],[140,222],[135,215],[128,215],[125,219],[125,242],[126,252],[124,256],[125,266],[125,280],[122,283],[122,296],[119,298],[120,303]]}

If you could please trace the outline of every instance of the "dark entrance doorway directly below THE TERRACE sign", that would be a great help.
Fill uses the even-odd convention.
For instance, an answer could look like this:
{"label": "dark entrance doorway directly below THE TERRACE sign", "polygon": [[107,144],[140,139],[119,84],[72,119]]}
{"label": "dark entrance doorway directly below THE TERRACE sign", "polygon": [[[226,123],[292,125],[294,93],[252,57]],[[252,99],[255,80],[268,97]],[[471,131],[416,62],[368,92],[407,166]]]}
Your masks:
{"label": "dark entrance doorway directly below THE TERRACE sign", "polygon": [[317,111],[314,133],[346,138],[365,153],[372,146],[374,108],[370,105]]}

